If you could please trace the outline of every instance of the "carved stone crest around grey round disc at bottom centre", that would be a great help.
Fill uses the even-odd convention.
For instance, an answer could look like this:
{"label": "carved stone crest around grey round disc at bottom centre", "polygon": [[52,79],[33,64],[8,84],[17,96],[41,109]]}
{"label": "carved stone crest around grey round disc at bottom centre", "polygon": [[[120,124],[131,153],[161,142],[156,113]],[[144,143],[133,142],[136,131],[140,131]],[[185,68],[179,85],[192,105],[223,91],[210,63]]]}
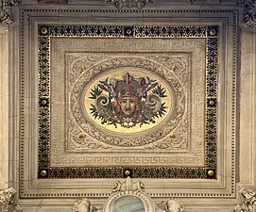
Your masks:
{"label": "carved stone crest around grey round disc at bottom centre", "polygon": [[145,193],[141,181],[133,182],[130,177],[124,183],[117,181],[112,187],[112,194],[100,209],[94,207],[87,198],[77,200],[72,212],[183,212],[184,205],[174,198],[155,204]]}

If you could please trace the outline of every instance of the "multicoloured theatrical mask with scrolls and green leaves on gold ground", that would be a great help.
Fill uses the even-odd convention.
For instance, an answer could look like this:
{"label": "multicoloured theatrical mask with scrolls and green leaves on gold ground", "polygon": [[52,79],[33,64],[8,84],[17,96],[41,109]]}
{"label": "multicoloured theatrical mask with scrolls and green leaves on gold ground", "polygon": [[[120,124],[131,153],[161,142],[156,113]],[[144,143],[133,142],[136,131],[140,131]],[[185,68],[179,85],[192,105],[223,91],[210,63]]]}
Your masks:
{"label": "multicoloured theatrical mask with scrolls and green leaves on gold ground", "polygon": [[[104,94],[104,92],[105,94]],[[156,80],[148,76],[136,79],[129,73],[122,80],[107,78],[91,90],[94,99],[91,114],[102,124],[117,124],[131,128],[136,124],[155,123],[155,119],[166,113],[165,90]]]}

